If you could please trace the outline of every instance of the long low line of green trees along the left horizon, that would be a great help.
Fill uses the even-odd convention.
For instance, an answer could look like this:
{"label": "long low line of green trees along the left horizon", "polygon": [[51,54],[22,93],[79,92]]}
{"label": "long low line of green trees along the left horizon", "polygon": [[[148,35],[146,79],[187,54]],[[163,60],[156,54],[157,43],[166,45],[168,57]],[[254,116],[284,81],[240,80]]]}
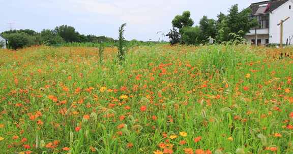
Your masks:
{"label": "long low line of green trees along the left horizon", "polygon": [[68,25],[57,26],[55,29],[43,29],[36,32],[31,29],[8,30],[1,33],[8,41],[8,47],[19,49],[34,45],[56,46],[63,43],[99,43],[113,42],[114,39],[106,36],[84,35]]}

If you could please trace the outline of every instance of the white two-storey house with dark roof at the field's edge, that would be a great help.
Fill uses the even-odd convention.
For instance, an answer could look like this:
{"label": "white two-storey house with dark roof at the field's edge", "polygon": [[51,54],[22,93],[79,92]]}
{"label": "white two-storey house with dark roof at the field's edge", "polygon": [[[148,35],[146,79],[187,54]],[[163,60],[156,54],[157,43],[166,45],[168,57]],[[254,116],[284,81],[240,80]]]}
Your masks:
{"label": "white two-storey house with dark roof at the field's edge", "polygon": [[245,38],[251,44],[280,44],[280,23],[290,17],[283,24],[283,44],[293,44],[293,0],[271,0],[250,5],[252,14],[259,25],[252,28]]}

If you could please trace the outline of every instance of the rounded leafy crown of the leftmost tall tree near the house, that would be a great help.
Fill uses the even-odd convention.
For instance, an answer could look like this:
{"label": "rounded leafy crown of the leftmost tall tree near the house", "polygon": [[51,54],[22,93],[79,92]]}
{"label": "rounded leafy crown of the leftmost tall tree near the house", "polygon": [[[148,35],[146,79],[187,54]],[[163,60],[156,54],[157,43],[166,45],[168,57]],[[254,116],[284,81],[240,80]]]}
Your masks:
{"label": "rounded leafy crown of the leftmost tall tree near the house", "polygon": [[182,15],[177,15],[172,20],[172,25],[175,28],[181,29],[183,27],[190,27],[194,24],[194,21],[190,18],[190,12],[184,11]]}

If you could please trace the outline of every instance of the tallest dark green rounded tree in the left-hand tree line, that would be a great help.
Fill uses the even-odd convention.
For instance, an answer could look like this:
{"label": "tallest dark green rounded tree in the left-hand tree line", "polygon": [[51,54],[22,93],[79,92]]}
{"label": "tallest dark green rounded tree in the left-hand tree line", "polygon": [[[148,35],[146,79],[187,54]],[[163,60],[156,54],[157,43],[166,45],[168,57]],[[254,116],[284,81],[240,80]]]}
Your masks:
{"label": "tallest dark green rounded tree in the left-hand tree line", "polygon": [[66,42],[80,42],[79,33],[72,26],[61,25],[54,30],[57,35],[61,36]]}

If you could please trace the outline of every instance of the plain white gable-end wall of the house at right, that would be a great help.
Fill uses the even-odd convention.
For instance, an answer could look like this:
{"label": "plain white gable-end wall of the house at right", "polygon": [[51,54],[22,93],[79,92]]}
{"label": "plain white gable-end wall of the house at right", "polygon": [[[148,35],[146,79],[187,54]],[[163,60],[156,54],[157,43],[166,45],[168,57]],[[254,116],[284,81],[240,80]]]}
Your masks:
{"label": "plain white gable-end wall of the house at right", "polygon": [[[291,10],[289,10],[291,6]],[[277,24],[290,17],[283,25],[283,44],[289,36],[293,36],[293,0],[290,0],[270,14],[270,43],[280,44],[280,26]]]}

